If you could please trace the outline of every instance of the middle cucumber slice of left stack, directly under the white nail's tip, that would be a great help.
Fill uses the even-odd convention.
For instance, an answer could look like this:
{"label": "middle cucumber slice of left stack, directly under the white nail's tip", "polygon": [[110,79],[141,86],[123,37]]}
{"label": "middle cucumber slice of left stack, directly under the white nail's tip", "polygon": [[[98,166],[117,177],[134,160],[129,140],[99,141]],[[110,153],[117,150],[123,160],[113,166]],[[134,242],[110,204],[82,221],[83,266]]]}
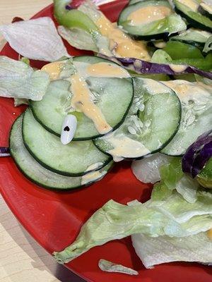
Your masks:
{"label": "middle cucumber slice of left stack, directly under the white nail's tip", "polygon": [[30,109],[23,116],[23,142],[42,166],[64,176],[83,176],[111,161],[91,140],[62,145],[59,137],[37,123]]}

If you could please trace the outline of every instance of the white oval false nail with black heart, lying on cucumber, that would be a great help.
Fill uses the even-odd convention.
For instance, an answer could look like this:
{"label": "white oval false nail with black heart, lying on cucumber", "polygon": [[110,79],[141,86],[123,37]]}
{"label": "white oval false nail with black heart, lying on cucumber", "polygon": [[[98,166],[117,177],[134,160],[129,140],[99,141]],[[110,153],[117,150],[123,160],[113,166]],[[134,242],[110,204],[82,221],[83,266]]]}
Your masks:
{"label": "white oval false nail with black heart, lying on cucumber", "polygon": [[69,144],[73,139],[73,136],[76,131],[76,125],[77,125],[76,116],[69,114],[64,118],[64,123],[61,128],[61,137],[60,137],[61,143],[63,145]]}

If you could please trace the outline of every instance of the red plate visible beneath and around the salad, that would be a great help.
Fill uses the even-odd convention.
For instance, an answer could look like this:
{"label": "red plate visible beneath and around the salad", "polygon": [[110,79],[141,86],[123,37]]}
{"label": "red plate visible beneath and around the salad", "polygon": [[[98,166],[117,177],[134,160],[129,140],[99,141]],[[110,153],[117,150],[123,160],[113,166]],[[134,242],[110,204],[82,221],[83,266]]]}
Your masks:
{"label": "red plate visible beneath and around the salad", "polygon": [[[105,4],[102,11],[114,21],[125,4],[126,1]],[[52,6],[48,6],[34,18],[52,17],[52,12]],[[73,49],[68,44],[66,47],[72,55],[88,54]],[[1,55],[18,59],[18,54],[8,44]],[[42,65],[41,62],[33,63],[34,66]],[[0,99],[1,146],[8,145],[11,125],[23,109],[24,107],[14,108],[13,99]],[[151,194],[151,188],[141,184],[133,176],[129,162],[117,164],[99,183],[73,192],[52,192],[34,185],[18,171],[9,157],[1,158],[0,175],[0,191],[4,200],[20,223],[50,253],[62,250],[73,242],[86,219],[108,200],[124,204],[134,199],[145,202]],[[136,269],[139,276],[102,272],[98,269],[100,258]],[[145,269],[131,246],[130,238],[94,247],[66,266],[86,281],[93,282],[211,282],[210,268],[200,264],[172,263]]]}

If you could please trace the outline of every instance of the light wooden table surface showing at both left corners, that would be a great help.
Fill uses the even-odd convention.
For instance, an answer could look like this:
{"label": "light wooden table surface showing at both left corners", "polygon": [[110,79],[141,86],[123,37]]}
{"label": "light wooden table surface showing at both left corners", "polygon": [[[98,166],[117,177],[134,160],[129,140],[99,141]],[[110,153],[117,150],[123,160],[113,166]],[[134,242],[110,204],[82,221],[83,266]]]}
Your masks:
{"label": "light wooden table surface showing at both left corners", "polygon": [[[0,0],[0,25],[28,19],[52,0]],[[0,49],[4,45],[0,38]],[[0,195],[0,282],[83,282],[57,264],[24,230]]]}

